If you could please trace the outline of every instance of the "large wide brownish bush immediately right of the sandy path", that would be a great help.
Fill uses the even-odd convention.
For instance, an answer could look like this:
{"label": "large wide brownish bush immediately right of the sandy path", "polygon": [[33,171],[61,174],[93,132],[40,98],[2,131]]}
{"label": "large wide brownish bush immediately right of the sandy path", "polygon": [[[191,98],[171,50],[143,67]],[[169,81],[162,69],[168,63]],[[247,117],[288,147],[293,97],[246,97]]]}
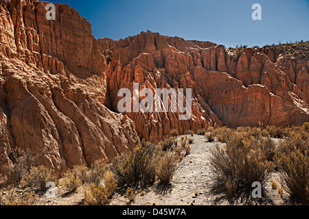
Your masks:
{"label": "large wide brownish bush immediately right of the sandy path", "polygon": [[268,162],[258,140],[241,133],[230,133],[227,144],[211,151],[211,168],[214,173],[214,190],[236,194],[251,189],[255,181],[264,185],[273,165]]}

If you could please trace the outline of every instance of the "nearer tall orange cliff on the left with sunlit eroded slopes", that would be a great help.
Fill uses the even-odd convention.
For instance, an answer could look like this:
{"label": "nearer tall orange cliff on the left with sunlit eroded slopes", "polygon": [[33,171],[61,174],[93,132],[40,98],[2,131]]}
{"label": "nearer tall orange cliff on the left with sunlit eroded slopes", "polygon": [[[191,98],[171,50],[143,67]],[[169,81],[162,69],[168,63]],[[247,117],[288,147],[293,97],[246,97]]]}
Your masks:
{"label": "nearer tall orange cliff on the left with sunlit eroded slopes", "polygon": [[91,25],[60,4],[47,21],[46,4],[0,5],[0,165],[14,147],[59,171],[133,149],[133,121],[104,105],[106,61]]}

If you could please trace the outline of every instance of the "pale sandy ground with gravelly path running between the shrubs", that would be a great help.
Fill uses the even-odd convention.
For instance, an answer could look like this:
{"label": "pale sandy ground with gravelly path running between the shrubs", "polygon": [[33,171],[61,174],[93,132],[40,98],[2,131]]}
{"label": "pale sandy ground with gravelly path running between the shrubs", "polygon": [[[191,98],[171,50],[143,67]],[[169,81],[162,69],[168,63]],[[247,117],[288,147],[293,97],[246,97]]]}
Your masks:
{"label": "pale sandy ground with gravelly path running between the shrubs", "polygon": [[[278,181],[274,173],[265,185],[263,198],[249,200],[238,198],[231,200],[211,192],[211,169],[209,164],[210,150],[218,142],[207,142],[204,136],[194,135],[191,153],[179,163],[179,168],[171,185],[161,187],[152,185],[147,190],[138,191],[135,201],[129,203],[124,195],[116,193],[111,205],[285,205],[286,194],[280,197],[277,190],[272,190],[271,179]],[[144,192],[144,194],[141,194]],[[41,197],[38,205],[82,205],[84,194],[82,188],[76,193],[68,194],[58,188],[56,198]]]}

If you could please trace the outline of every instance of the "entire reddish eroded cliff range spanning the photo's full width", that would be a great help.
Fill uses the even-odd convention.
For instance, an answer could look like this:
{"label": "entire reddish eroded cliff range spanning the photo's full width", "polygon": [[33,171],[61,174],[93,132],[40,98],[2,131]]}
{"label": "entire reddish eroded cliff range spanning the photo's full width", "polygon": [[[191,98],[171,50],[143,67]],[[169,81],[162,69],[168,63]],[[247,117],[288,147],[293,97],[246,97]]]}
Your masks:
{"label": "entire reddish eroded cliff range spanning the photo's full width", "polygon": [[[276,49],[233,55],[212,42],[150,31],[96,40],[69,5],[0,2],[0,166],[15,147],[63,171],[133,149],[137,135],[157,141],[171,129],[301,125],[309,121],[309,62]],[[104,27],[102,27],[104,28]],[[192,118],[173,113],[119,114],[117,92],[191,88]],[[139,98],[139,101],[143,99]]]}

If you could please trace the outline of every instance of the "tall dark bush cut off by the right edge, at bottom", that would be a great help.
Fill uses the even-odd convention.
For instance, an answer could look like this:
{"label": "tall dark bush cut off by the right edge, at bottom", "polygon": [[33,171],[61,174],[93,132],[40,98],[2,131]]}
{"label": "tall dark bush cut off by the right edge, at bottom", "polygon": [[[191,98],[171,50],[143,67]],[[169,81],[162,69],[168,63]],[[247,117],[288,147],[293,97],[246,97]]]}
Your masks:
{"label": "tall dark bush cut off by the right edge, at bottom", "polygon": [[308,150],[293,149],[275,156],[280,179],[292,201],[309,203],[309,157]]}

